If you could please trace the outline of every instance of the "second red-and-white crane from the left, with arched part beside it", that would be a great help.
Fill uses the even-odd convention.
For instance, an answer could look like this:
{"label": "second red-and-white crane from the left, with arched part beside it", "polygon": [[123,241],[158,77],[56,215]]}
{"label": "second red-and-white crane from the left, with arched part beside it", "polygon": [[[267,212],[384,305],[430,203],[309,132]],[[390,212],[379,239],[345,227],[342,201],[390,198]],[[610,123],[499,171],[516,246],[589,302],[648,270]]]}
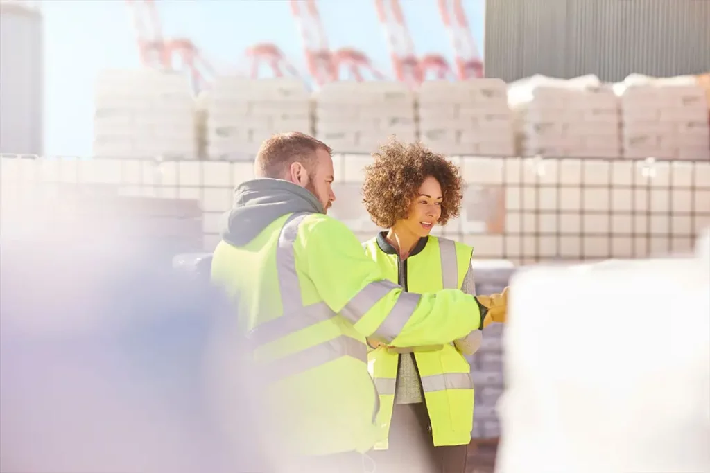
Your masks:
{"label": "second red-and-white crane from the left, with arched part beside it", "polygon": [[316,87],[338,80],[341,75],[359,82],[368,76],[385,79],[364,52],[353,48],[336,51],[329,48],[316,0],[291,0],[291,12],[303,43],[308,72]]}

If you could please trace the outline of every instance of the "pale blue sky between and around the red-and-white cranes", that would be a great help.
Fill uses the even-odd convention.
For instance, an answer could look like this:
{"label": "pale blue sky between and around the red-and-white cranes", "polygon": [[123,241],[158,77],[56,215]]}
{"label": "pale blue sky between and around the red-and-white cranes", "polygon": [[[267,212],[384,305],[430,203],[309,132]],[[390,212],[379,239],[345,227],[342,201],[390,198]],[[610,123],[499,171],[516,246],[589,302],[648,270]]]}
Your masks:
{"label": "pale blue sky between and around the red-and-white cranes", "polygon": [[[188,36],[216,67],[240,63],[253,43],[276,43],[304,68],[287,0],[156,0],[163,32]],[[400,0],[417,54],[452,59],[452,46],[437,0]],[[483,49],[484,0],[464,0],[474,39]],[[320,15],[332,49],[366,52],[391,72],[374,0],[320,0]],[[51,155],[89,155],[92,87],[101,69],[138,67],[129,9],[124,0],[52,0],[45,13],[45,150]]]}

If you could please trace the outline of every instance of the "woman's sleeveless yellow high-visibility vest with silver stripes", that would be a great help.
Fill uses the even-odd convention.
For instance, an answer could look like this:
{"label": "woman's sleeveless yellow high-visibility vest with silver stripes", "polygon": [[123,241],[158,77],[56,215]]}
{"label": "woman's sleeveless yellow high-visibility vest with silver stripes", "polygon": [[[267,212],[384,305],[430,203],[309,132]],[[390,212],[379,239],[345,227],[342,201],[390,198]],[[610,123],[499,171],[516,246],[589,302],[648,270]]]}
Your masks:
{"label": "woman's sleeveless yellow high-visibility vest with silver stripes", "polygon": [[[379,243],[378,243],[379,242]],[[460,289],[471,265],[473,248],[462,243],[430,236],[422,238],[412,254],[401,262],[383,235],[364,244],[366,253],[391,281],[406,291],[425,293]],[[404,279],[404,280],[403,280]],[[434,445],[464,445],[471,441],[474,416],[474,386],[471,367],[453,344],[439,350],[415,350]],[[369,352],[368,369],[380,395],[378,423],[389,435],[400,355],[380,346]],[[381,440],[376,450],[388,448]]]}

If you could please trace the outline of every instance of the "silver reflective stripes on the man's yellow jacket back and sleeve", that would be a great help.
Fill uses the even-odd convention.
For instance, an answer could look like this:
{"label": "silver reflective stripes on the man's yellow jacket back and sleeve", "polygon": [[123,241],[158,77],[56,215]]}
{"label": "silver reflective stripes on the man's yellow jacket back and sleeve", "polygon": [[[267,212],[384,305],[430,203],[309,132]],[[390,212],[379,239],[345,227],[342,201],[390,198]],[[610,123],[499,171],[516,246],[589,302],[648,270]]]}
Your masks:
{"label": "silver reflective stripes on the man's yellow jacket back and sleeve", "polygon": [[[350,299],[339,314],[332,311],[324,301],[304,306],[296,272],[293,245],[300,223],[309,215],[310,213],[293,213],[281,228],[276,247],[276,269],[284,313],[282,316],[261,323],[251,330],[249,338],[255,347],[271,343],[285,335],[309,328],[337,315],[343,316],[351,323],[356,323],[390,291],[400,288],[398,284],[387,280],[371,282]],[[377,329],[376,335],[391,342],[409,321],[420,297],[420,294],[402,292],[395,306]],[[366,345],[359,340],[342,335],[275,360],[270,363],[273,367],[269,369],[277,372],[278,377],[287,377],[324,365],[343,356],[355,357],[367,362]]]}

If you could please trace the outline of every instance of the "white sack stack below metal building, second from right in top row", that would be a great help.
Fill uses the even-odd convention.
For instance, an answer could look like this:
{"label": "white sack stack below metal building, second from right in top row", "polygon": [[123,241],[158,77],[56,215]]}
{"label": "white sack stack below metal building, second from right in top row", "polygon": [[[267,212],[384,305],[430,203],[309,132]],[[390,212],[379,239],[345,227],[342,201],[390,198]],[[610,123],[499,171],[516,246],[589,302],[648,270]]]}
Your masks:
{"label": "white sack stack below metal building, second from right in top row", "polygon": [[510,84],[508,102],[523,156],[621,155],[618,99],[594,76],[522,79]]}

